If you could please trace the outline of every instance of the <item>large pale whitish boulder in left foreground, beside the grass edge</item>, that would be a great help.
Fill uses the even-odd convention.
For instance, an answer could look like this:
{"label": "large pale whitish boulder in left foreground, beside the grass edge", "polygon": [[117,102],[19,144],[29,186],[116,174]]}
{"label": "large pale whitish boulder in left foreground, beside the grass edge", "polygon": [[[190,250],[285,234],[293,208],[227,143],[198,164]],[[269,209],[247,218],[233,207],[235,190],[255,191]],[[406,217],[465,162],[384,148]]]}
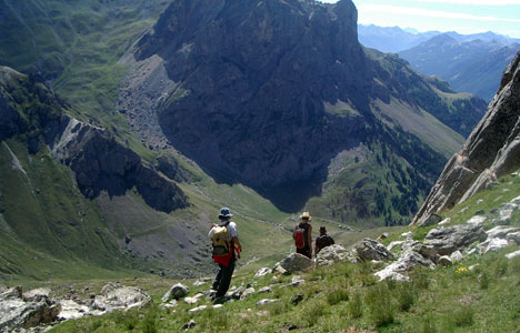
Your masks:
{"label": "large pale whitish boulder in left foreground, beside the grass edge", "polygon": [[92,302],[92,309],[112,312],[116,310],[128,310],[140,307],[151,302],[151,297],[141,289],[136,286],[121,286],[107,284]]}

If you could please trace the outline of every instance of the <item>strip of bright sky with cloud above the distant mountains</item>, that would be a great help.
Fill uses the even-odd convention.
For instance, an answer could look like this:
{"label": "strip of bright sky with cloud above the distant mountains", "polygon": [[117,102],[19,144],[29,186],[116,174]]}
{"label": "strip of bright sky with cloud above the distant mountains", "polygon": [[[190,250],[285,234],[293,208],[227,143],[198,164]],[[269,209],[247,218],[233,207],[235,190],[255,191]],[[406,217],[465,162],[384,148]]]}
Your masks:
{"label": "strip of bright sky with cloud above the distant mountains", "polygon": [[[321,0],[337,2],[337,0]],[[353,0],[359,23],[520,38],[520,0]]]}

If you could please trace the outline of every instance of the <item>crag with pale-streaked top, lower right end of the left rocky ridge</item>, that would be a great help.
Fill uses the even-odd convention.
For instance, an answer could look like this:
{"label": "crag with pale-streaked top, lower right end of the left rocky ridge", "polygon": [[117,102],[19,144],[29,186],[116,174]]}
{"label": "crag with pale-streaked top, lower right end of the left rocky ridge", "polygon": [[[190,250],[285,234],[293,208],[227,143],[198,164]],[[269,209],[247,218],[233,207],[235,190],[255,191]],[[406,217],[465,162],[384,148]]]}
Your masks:
{"label": "crag with pale-streaked top, lower right end of the left rocky ridge", "polygon": [[78,185],[87,198],[101,191],[124,195],[136,186],[151,208],[171,212],[188,206],[188,199],[172,182],[143,164],[141,158],[116,141],[106,129],[63,115],[63,131],[50,135],[54,158],[74,171]]}

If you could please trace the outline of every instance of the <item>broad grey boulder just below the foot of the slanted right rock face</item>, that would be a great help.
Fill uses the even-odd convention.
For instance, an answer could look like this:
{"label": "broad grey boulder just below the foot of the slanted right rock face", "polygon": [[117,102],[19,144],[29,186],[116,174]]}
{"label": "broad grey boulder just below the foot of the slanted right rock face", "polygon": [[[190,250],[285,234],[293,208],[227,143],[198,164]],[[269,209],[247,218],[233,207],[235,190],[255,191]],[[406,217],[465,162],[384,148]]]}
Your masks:
{"label": "broad grey boulder just below the foot of the slanted right rock face", "polygon": [[487,234],[480,224],[469,223],[432,229],[427,234],[424,244],[432,245],[440,255],[449,255],[486,239]]}

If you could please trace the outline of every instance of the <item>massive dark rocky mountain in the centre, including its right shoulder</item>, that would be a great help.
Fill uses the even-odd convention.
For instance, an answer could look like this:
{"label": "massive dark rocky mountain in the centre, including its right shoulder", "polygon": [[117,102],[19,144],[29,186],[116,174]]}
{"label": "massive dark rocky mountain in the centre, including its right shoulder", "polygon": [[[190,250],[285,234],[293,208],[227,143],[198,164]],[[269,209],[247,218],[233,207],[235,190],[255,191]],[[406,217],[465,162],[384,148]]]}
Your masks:
{"label": "massive dark rocky mountain in the centre, including its right shoulder", "polygon": [[[461,108],[448,107],[441,97],[451,98],[451,90],[400,59],[368,53],[374,52],[358,42],[350,0],[176,0],[137,44],[120,110],[138,132],[164,133],[218,181],[251,185],[283,209],[296,198],[290,209],[319,196],[329,167],[346,157],[342,152],[366,152],[359,158],[371,163],[381,147],[399,160],[390,163],[389,158],[383,168],[402,168],[402,176],[393,174],[400,183],[410,180],[398,196],[410,186],[420,189],[413,195],[419,200],[443,157],[437,139],[423,144],[417,137],[436,129],[452,140],[447,145],[457,145],[453,131],[472,127],[480,107],[462,98],[471,117],[458,118]],[[150,97],[156,99],[147,105],[137,102]],[[143,114],[151,119],[147,125],[136,121]],[[431,114],[440,122],[433,123]],[[442,123],[452,115],[458,120]],[[158,125],[149,130],[148,123]],[[364,178],[342,183],[353,188]],[[356,201],[373,202],[373,189],[366,193]]]}

